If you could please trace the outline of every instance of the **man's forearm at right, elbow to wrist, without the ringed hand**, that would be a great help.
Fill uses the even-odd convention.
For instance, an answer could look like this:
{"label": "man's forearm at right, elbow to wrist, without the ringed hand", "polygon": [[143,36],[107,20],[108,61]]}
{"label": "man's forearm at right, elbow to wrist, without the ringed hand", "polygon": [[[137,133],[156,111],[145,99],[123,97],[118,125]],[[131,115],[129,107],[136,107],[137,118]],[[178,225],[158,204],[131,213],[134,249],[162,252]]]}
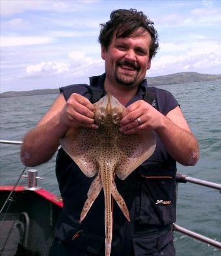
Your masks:
{"label": "man's forearm at right, elbow to wrist, without the ringed hand", "polygon": [[168,117],[162,118],[162,125],[156,129],[168,153],[183,165],[195,165],[199,158],[198,142],[194,135],[183,130]]}

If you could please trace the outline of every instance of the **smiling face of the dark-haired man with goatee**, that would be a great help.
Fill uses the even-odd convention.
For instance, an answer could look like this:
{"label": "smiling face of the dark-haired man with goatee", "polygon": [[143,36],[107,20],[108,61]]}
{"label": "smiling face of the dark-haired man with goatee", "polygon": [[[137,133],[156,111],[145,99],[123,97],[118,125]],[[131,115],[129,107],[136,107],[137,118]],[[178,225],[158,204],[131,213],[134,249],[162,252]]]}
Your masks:
{"label": "smiling face of the dark-haired man with goatee", "polygon": [[144,32],[141,36],[115,38],[109,48],[102,48],[101,57],[105,60],[106,78],[110,83],[125,86],[138,86],[150,68],[149,46],[151,36]]}

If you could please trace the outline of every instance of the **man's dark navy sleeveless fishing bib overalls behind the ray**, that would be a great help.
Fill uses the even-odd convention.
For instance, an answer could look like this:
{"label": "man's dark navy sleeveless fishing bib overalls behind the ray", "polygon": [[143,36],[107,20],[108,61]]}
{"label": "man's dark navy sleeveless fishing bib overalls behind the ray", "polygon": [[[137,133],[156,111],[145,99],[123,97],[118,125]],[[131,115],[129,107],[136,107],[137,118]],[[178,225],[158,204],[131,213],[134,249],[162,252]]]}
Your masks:
{"label": "man's dark navy sleeveless fishing bib overalls behind the ray", "polygon": [[[90,87],[88,85],[71,85],[63,87],[61,92],[66,99],[73,92],[76,92],[86,96],[92,103],[97,102],[104,96],[105,92],[94,86],[96,79],[91,80]],[[155,93],[154,88],[147,88],[143,99],[157,108],[159,107],[159,102],[157,102],[159,94],[163,93],[162,91]],[[162,106],[164,105],[162,104]],[[146,243],[149,239],[149,233],[157,232],[159,241],[161,240],[159,242],[161,247],[172,241],[171,235],[163,236],[162,239],[159,234],[165,234],[170,230],[170,225],[175,222],[175,160],[165,151],[159,137],[157,137],[155,151],[153,156],[125,180],[116,177],[118,192],[125,200],[131,221],[128,222],[125,219],[118,205],[113,202],[112,251],[116,251],[116,254],[113,253],[112,255],[129,255],[125,250],[130,248],[131,241],[134,249],[136,248],[139,253],[142,252],[141,248],[148,248]],[[102,191],[90,208],[85,220],[79,223],[79,216],[86,201],[88,188],[94,178],[86,177],[63,149],[60,149],[57,154],[56,174],[64,203],[56,232],[57,238],[64,242],[76,243],[77,246],[98,253],[105,239]],[[78,233],[78,238],[73,239]],[[120,253],[122,239],[125,241],[125,247]]]}

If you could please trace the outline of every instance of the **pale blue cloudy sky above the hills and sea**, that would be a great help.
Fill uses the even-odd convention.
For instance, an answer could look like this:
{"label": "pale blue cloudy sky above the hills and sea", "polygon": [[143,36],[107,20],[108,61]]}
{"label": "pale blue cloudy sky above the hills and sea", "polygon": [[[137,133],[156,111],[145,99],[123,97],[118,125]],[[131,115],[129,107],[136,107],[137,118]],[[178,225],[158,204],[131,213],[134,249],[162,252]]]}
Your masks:
{"label": "pale blue cloudy sky above the hills and sea", "polygon": [[100,23],[118,8],[155,23],[159,51],[146,76],[221,74],[221,0],[0,0],[0,92],[88,83],[105,72]]}

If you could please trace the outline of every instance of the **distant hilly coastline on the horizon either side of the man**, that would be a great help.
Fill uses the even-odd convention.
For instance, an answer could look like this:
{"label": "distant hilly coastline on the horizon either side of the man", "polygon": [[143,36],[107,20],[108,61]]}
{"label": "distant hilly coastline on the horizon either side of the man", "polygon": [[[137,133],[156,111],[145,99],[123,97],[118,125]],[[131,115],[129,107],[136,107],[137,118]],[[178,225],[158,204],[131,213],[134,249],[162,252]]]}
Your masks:
{"label": "distant hilly coastline on the horizon either side of the man", "polygon": [[[194,82],[203,82],[203,81],[214,81],[220,80],[221,84],[221,75],[209,75],[209,74],[200,74],[196,72],[181,72],[175,73],[166,76],[155,76],[153,78],[147,78],[148,85],[172,85],[177,83],[194,83]],[[31,95],[44,95],[44,94],[59,94],[59,89],[39,89],[32,91],[10,91],[3,92],[0,94],[0,98],[14,97],[14,96],[31,96]]]}

